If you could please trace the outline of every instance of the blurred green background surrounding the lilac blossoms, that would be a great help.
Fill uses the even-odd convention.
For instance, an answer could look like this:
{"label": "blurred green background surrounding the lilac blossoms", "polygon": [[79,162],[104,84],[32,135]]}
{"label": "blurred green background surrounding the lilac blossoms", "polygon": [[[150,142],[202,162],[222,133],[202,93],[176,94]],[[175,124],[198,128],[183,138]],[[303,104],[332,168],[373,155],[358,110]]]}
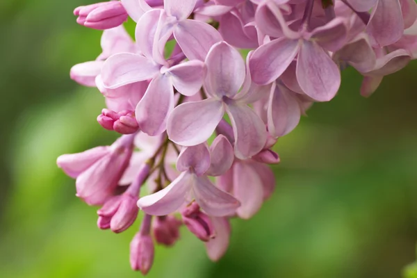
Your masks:
{"label": "blurred green background surrounding the lilac blossoms", "polygon": [[[141,277],[123,234],[99,231],[56,157],[113,142],[95,118],[104,99],[70,80],[99,54],[101,32],[75,23],[92,0],[0,1],[0,277]],[[393,278],[415,261],[417,62],[370,99],[343,72],[338,96],[315,104],[282,138],[277,189],[251,220],[234,220],[212,263],[181,230],[158,247],[149,277]],[[411,275],[413,267],[407,268]]]}

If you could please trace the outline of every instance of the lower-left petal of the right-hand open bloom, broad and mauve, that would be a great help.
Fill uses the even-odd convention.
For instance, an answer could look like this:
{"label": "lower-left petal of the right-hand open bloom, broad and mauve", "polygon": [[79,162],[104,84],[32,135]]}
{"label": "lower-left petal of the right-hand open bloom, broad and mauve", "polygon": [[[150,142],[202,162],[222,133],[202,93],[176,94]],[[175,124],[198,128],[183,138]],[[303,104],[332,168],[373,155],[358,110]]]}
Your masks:
{"label": "lower-left petal of the right-hand open bloom, broad and mauve", "polygon": [[272,40],[254,51],[250,59],[252,80],[259,85],[275,81],[297,55],[298,40]]}

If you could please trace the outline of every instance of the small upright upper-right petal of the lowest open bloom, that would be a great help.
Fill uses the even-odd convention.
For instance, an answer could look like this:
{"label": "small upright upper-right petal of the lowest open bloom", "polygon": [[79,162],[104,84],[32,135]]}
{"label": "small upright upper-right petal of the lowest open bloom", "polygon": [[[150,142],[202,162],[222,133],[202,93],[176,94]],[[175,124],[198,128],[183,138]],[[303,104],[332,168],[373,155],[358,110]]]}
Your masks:
{"label": "small upright upper-right petal of the lowest open bloom", "polygon": [[223,135],[215,138],[210,146],[211,165],[206,172],[208,176],[221,176],[231,168],[234,161],[233,147]]}

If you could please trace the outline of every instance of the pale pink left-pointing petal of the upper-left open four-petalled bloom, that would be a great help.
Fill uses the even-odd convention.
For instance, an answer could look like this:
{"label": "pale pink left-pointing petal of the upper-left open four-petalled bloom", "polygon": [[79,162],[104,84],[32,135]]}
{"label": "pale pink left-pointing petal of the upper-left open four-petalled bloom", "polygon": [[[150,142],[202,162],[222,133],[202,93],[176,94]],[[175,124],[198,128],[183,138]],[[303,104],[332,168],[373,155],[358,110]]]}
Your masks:
{"label": "pale pink left-pointing petal of the upper-left open four-petalled bloom", "polygon": [[101,69],[101,79],[109,89],[122,85],[152,79],[158,74],[159,68],[145,56],[121,53],[108,58]]}

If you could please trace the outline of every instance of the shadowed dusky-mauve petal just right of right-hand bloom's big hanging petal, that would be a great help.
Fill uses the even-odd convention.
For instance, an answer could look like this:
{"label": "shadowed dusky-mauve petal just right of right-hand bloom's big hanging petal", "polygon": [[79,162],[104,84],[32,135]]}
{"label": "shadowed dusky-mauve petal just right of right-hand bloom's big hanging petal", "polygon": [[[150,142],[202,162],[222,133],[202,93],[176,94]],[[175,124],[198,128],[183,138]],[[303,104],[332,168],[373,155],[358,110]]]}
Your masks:
{"label": "shadowed dusky-mauve petal just right of right-hand bloom's big hanging petal", "polygon": [[377,57],[366,35],[359,35],[349,44],[337,51],[334,60],[341,60],[349,63],[359,72],[369,72],[375,67]]}

